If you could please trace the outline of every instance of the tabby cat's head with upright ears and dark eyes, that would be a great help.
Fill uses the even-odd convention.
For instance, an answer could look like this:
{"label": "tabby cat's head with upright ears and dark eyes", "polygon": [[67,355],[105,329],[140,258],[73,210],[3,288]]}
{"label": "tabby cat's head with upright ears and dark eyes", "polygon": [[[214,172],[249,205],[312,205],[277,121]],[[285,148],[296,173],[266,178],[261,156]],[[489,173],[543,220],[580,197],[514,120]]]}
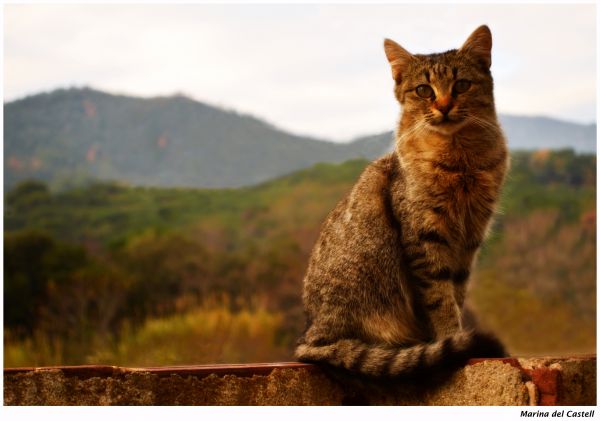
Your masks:
{"label": "tabby cat's head with upright ears and dark eyes", "polygon": [[487,26],[477,28],[458,50],[445,53],[411,54],[389,39],[384,49],[396,98],[409,121],[451,134],[495,118],[492,34]]}

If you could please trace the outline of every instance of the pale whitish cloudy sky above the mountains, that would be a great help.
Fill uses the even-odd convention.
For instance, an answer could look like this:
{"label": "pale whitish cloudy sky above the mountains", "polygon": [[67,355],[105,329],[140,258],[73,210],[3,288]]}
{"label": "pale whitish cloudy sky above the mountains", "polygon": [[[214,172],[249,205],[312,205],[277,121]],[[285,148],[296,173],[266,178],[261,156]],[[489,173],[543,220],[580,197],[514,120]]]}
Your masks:
{"label": "pale whitish cloudy sky above the mountains", "polygon": [[185,94],[333,141],[392,130],[383,52],[459,48],[493,36],[500,113],[596,120],[595,4],[12,4],[4,101],[89,86]]}

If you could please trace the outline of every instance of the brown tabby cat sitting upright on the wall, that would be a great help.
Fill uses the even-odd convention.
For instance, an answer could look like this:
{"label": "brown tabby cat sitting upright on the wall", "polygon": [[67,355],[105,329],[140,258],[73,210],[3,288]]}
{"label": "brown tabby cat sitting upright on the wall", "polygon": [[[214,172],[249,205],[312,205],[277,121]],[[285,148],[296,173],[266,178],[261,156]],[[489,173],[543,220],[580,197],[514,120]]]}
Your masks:
{"label": "brown tabby cat sitting upright on the wall", "polygon": [[506,355],[464,306],[509,166],[491,47],[485,25],[438,54],[384,41],[402,110],[396,147],[321,227],[303,281],[300,361],[395,377]]}

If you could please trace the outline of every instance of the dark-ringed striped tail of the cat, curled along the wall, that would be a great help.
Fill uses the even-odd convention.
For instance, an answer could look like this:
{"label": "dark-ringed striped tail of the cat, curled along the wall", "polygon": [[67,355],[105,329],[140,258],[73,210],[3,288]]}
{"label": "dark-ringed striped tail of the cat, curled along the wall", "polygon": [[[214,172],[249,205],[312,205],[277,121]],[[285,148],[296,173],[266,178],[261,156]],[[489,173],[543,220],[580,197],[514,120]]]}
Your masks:
{"label": "dark-ringed striped tail of the cat, curled along the wall", "polygon": [[411,347],[367,344],[342,339],[327,345],[306,343],[296,348],[303,362],[322,362],[375,377],[412,375],[421,371],[457,366],[474,357],[503,357],[504,347],[492,335],[460,331],[436,342]]}

